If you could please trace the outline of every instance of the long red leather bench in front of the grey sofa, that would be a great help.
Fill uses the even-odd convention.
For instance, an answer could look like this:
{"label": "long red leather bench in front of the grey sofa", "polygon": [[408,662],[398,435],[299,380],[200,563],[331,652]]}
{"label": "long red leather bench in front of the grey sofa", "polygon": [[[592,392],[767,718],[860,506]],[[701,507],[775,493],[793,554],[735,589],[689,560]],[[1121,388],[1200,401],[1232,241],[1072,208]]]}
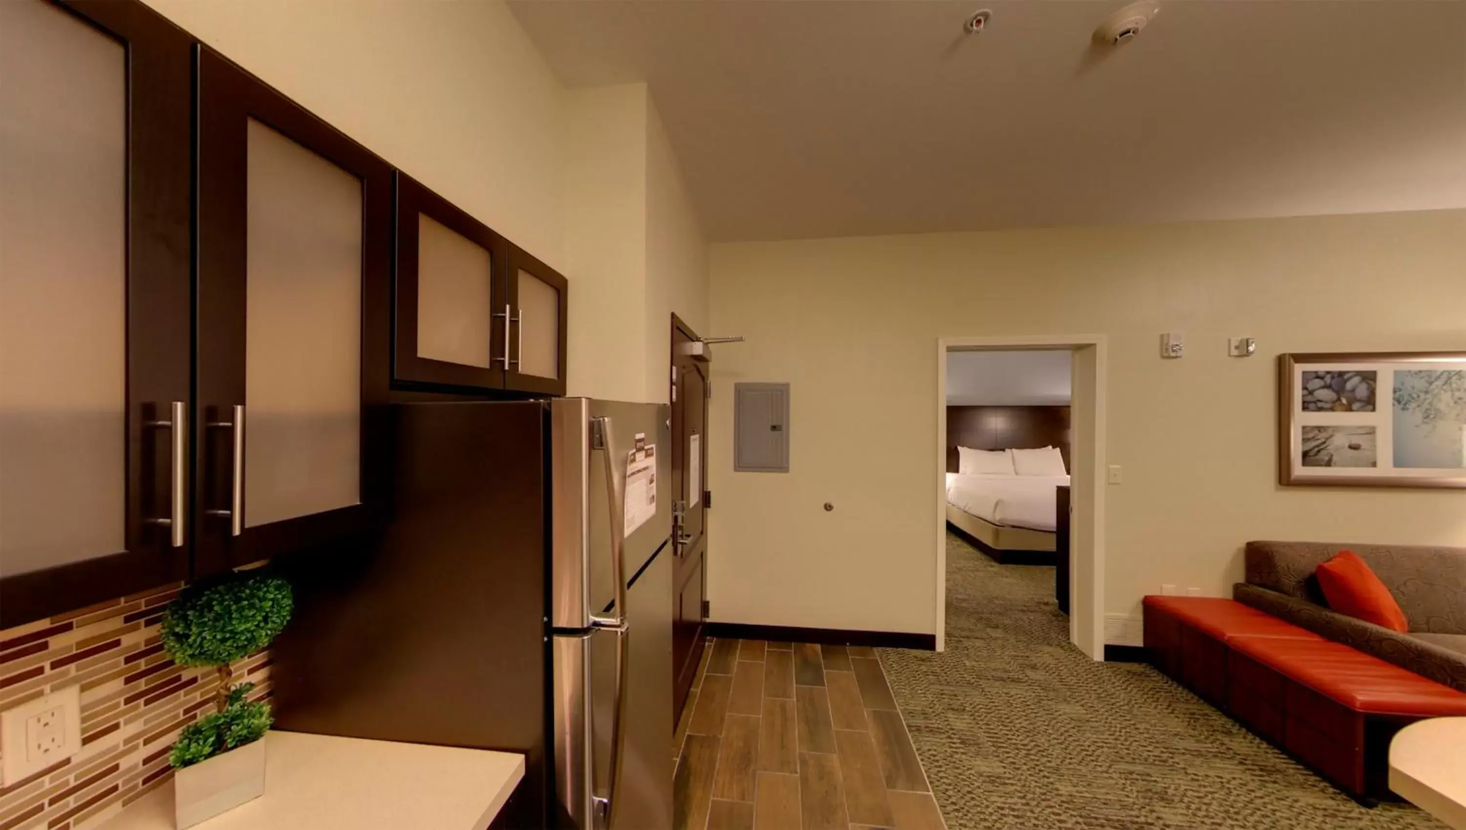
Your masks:
{"label": "long red leather bench in front of the grey sofa", "polygon": [[1233,600],[1146,597],[1155,666],[1362,802],[1390,795],[1390,739],[1466,716],[1466,694]]}

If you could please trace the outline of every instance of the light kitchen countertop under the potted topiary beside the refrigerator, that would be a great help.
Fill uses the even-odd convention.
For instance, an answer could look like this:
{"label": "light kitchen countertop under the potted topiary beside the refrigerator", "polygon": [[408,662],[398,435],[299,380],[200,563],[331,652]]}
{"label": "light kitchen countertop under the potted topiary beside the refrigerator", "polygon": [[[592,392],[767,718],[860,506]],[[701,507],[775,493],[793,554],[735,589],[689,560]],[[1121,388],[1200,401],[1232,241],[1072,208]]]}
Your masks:
{"label": "light kitchen countertop under the potted topiary beside the refrigerator", "polygon": [[[523,755],[270,732],[265,793],[196,830],[484,830],[525,776]],[[174,830],[173,783],[100,830]]]}

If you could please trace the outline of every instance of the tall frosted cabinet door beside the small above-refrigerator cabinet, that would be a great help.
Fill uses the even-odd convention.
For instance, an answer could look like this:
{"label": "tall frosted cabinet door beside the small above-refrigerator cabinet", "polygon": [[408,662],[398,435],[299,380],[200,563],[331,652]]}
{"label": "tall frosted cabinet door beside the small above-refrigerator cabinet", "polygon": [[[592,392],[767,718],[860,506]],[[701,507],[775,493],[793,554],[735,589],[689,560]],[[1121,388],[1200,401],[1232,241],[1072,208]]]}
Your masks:
{"label": "tall frosted cabinet door beside the small above-refrigerator cabinet", "polygon": [[207,48],[198,73],[202,576],[365,526],[391,170]]}

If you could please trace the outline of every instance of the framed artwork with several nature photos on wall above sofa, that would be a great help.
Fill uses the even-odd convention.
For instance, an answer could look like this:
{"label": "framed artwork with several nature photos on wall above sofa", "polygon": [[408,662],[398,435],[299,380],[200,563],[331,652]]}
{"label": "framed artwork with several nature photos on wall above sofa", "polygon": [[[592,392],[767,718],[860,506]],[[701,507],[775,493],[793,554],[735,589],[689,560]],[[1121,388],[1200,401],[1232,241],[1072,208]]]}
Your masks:
{"label": "framed artwork with several nature photos on wall above sofa", "polygon": [[1278,484],[1466,488],[1466,350],[1278,355]]}

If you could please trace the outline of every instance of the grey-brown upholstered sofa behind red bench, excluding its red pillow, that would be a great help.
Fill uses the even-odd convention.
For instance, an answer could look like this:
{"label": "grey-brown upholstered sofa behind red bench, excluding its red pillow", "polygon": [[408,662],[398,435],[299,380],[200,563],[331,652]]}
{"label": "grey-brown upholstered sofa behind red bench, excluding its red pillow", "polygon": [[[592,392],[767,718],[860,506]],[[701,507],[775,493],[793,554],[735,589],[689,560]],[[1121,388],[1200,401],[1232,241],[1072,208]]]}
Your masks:
{"label": "grey-brown upholstered sofa behind red bench, excluding its red pillow", "polygon": [[[1328,610],[1314,570],[1358,553],[1410,622],[1399,633]],[[1252,541],[1233,598],[1314,633],[1466,692],[1466,548]]]}

